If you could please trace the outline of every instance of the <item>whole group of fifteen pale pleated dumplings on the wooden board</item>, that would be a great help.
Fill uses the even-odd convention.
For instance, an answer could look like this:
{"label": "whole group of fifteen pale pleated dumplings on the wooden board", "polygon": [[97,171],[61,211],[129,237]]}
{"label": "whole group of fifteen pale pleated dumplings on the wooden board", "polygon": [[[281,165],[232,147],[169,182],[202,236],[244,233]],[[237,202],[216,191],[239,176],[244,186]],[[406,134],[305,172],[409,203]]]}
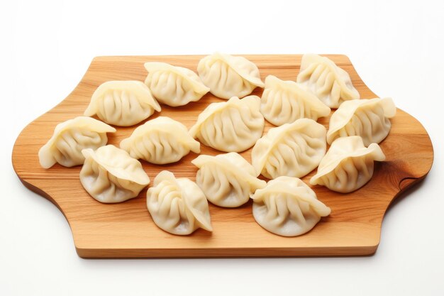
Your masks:
{"label": "whole group of fifteen pale pleated dumplings on the wooden board", "polygon": [[[264,83],[254,63],[221,53],[200,60],[199,76],[165,62],[146,62],[145,69],[145,83],[101,84],[84,116],[58,124],[38,155],[43,168],[83,165],[85,190],[112,203],[137,197],[150,184],[138,159],[174,163],[190,151],[200,153],[200,143],[226,152],[192,160],[196,182],[168,171],[155,177],[147,208],[155,224],[171,234],[212,231],[207,200],[240,207],[250,198],[264,229],[281,236],[304,234],[331,209],[299,178],[318,168],[311,185],[352,192],[370,180],[374,160],[385,158],[378,143],[396,113],[392,99],[360,99],[348,73],[327,57],[304,55],[296,82],[269,75]],[[261,98],[250,95],[256,87],[265,87]],[[133,126],[161,111],[158,102],[184,106],[208,92],[227,101],[209,104],[189,131],[159,116],[135,128],[120,148],[106,145],[106,133],[116,132],[109,124]],[[331,108],[338,110],[327,131],[316,121]],[[86,117],[94,115],[101,121]],[[277,127],[262,136],[265,119]],[[250,164],[238,153],[251,147]]]}

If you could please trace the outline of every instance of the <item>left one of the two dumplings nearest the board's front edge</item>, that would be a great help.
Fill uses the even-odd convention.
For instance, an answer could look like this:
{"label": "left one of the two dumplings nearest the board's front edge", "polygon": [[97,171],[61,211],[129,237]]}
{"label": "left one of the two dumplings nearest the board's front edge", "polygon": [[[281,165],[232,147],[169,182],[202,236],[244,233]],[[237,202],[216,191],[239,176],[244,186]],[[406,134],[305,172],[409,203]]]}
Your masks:
{"label": "left one of the two dumplings nearest the board's front edge", "polygon": [[176,179],[167,170],[148,189],[147,207],[154,223],[170,234],[187,235],[198,228],[213,231],[204,192],[191,180]]}

